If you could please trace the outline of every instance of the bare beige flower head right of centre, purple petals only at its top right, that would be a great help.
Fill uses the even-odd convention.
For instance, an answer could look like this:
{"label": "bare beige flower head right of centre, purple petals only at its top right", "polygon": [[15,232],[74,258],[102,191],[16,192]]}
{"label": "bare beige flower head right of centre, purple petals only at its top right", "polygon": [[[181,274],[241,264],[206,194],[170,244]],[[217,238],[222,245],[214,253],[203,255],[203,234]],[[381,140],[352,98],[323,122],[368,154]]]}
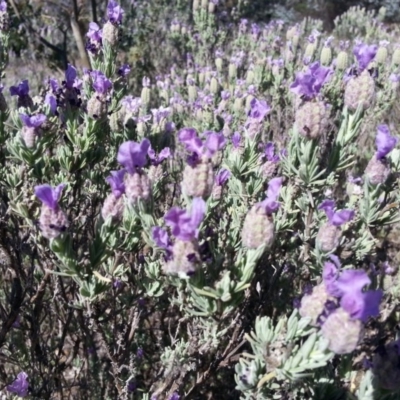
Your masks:
{"label": "bare beige flower head right of centre, purple petals only at its top right", "polygon": [[272,217],[265,209],[255,204],[247,213],[242,229],[242,243],[249,249],[261,245],[271,247],[275,238],[275,226]]}

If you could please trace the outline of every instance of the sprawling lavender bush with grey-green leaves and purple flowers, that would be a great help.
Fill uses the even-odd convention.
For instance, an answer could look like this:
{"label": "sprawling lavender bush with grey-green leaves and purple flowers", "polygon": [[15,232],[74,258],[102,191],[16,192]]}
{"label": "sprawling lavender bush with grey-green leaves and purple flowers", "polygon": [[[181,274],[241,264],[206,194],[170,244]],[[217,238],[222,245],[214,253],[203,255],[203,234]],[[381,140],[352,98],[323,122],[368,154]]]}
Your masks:
{"label": "sprawling lavender bush with grey-green leaves and purple flowers", "polygon": [[114,0],[91,70],[3,88],[4,393],[398,396],[398,39],[229,36],[218,6],[194,2],[189,53],[136,93]]}

